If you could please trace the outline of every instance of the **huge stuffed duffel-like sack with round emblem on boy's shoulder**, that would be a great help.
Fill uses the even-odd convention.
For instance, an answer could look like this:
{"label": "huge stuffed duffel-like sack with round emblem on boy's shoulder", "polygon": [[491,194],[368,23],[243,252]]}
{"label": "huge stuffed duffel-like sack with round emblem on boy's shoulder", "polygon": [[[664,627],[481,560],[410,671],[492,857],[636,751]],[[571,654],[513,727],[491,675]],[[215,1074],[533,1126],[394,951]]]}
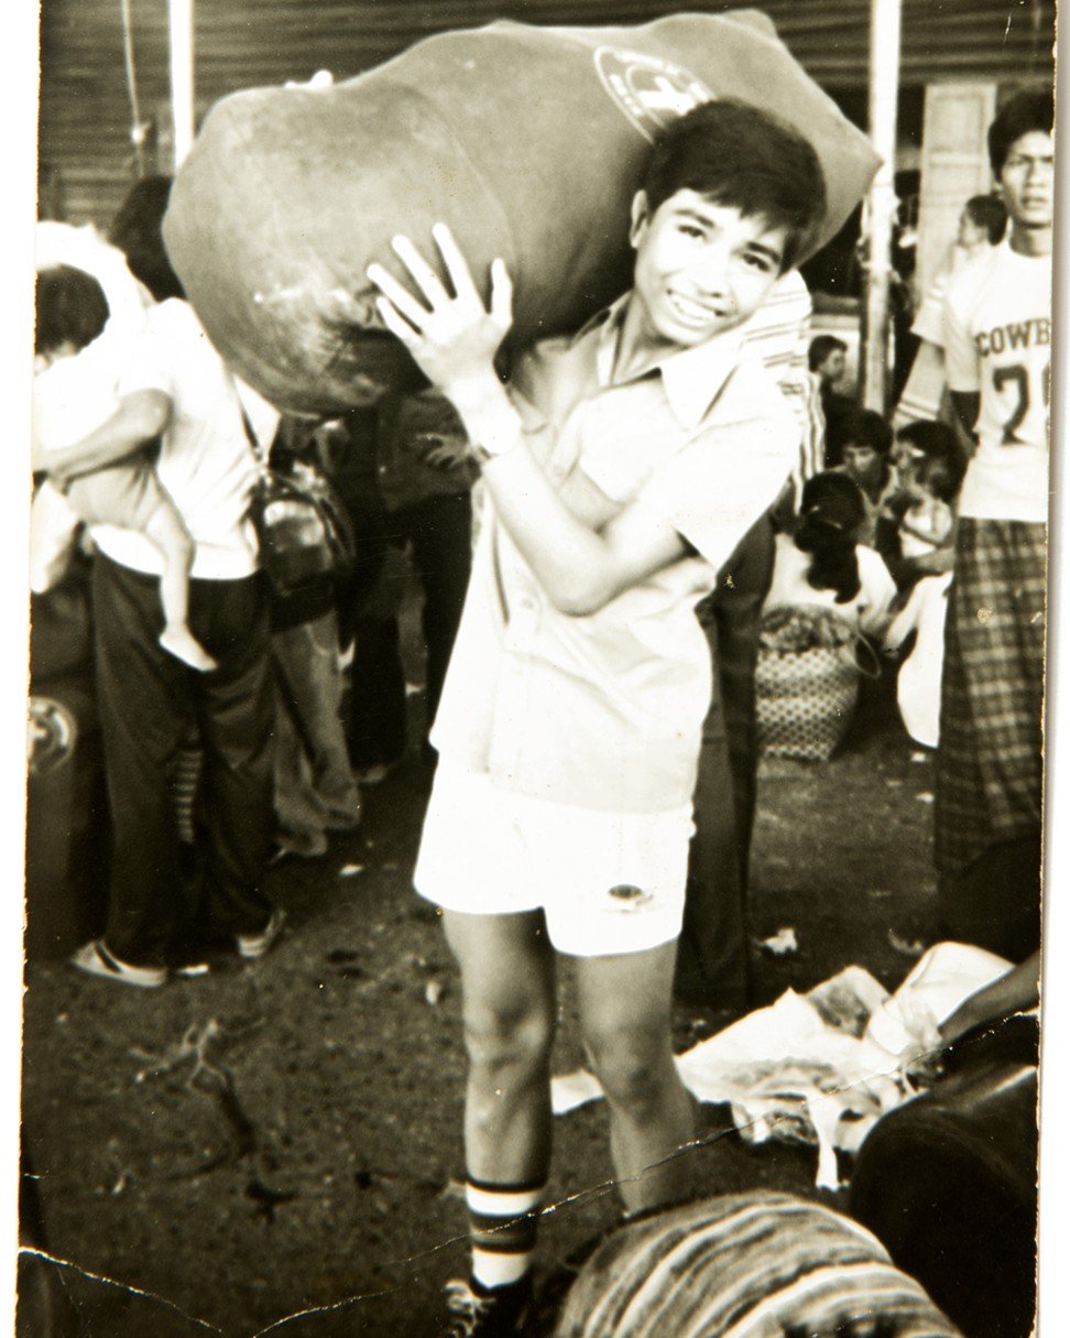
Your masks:
{"label": "huge stuffed duffel-like sack with round emblem on boy's shoulder", "polygon": [[337,411],[412,379],[364,270],[389,240],[502,256],[514,339],[576,328],[630,282],[629,206],[657,128],[714,96],[778,112],[817,150],[828,241],[876,155],[762,15],[634,28],[492,23],[443,33],[329,87],[254,88],[209,112],[163,235],[223,356],[280,408]]}

